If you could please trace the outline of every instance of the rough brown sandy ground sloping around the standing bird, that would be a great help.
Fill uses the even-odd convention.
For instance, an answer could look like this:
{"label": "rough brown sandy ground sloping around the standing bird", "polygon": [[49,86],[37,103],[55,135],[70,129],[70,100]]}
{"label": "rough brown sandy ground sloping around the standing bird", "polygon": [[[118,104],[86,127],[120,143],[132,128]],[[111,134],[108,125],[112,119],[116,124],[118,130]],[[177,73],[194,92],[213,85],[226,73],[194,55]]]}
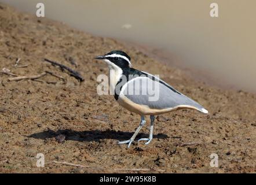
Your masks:
{"label": "rough brown sandy ground sloping around the standing bird", "polygon": [[[41,82],[9,82],[12,76],[0,73],[0,172],[256,171],[256,95],[211,87],[114,39],[76,31],[3,4],[0,25],[1,70],[7,68],[19,76],[50,71],[65,79],[46,75]],[[131,56],[134,68],[160,74],[210,114],[186,109],[163,114],[156,118],[150,145],[134,142],[130,149],[116,145],[118,140],[129,139],[140,121],[112,95],[97,94],[97,76],[108,74],[108,68],[93,57],[116,49]],[[17,58],[21,59],[18,66],[28,66],[14,66]],[[85,82],[43,58],[79,71]],[[137,138],[148,136],[148,117],[147,121]],[[38,153],[45,156],[44,168],[36,167]],[[218,154],[218,168],[210,166],[211,153]]]}

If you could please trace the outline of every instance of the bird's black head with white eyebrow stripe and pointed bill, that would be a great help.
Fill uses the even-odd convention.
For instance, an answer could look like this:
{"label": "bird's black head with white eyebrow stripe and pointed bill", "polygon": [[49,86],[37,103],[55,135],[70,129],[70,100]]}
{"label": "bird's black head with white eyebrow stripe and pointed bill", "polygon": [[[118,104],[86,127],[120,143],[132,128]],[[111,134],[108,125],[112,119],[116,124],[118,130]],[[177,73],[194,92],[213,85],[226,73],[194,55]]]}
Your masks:
{"label": "bird's black head with white eyebrow stripe and pointed bill", "polygon": [[131,58],[124,51],[114,50],[95,59],[104,60],[108,65],[118,66],[121,69],[131,68]]}

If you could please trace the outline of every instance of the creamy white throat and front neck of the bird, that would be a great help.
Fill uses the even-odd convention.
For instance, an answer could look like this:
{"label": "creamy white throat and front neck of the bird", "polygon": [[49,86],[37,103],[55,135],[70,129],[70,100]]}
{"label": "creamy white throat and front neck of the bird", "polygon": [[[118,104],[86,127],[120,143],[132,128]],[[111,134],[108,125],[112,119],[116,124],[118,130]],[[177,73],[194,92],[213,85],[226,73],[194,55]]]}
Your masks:
{"label": "creamy white throat and front neck of the bird", "polygon": [[108,64],[109,68],[110,91],[115,94],[115,86],[122,77],[123,70],[107,59],[104,61]]}

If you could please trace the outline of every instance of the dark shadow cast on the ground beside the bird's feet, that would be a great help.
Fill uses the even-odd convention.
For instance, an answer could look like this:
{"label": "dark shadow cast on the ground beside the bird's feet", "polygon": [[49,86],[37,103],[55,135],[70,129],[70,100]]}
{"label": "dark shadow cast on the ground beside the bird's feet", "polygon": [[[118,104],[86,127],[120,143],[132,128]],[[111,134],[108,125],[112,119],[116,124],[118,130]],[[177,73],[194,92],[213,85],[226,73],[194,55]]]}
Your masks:
{"label": "dark shadow cast on the ground beside the bird's feet", "polygon": [[[58,131],[53,131],[51,129],[43,132],[38,132],[31,134],[30,138],[35,139],[47,139],[54,138],[58,135],[64,135],[65,140],[77,140],[80,142],[86,141],[99,141],[101,139],[116,139],[116,140],[126,140],[130,139],[133,135],[133,132],[122,132],[122,131],[113,131],[107,129],[105,131],[100,131],[98,129],[92,131],[73,131],[71,129],[59,129]],[[148,138],[148,134],[138,134],[137,138]],[[166,139],[169,138],[166,134],[157,134],[153,135],[153,138]]]}

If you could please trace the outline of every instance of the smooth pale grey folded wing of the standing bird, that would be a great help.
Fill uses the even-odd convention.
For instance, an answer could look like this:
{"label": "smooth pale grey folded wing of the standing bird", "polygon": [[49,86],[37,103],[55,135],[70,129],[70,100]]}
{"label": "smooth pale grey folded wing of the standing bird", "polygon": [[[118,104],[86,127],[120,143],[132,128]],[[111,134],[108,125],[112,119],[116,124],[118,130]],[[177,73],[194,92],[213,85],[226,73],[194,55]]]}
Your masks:
{"label": "smooth pale grey folded wing of the standing bird", "polygon": [[152,80],[149,77],[136,77],[123,87],[123,94],[134,103],[147,105],[151,109],[167,109],[187,105],[206,113],[206,109],[202,105],[159,80]]}

